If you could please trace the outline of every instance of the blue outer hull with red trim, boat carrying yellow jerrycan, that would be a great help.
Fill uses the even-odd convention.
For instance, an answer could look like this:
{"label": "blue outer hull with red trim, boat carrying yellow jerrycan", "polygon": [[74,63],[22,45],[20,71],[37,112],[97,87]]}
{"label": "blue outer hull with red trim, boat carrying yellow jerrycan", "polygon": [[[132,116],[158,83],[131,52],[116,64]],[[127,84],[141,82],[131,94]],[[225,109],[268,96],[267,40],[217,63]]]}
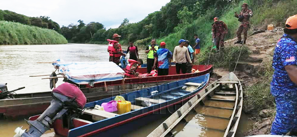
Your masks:
{"label": "blue outer hull with red trim, boat carrying yellow jerrycan", "polygon": [[[60,136],[68,137],[104,137],[104,136],[120,136],[122,133],[131,132],[136,128],[141,127],[141,125],[146,125],[153,119],[157,119],[167,114],[174,113],[183,103],[189,101],[192,97],[197,95],[199,91],[203,90],[209,81],[209,74],[204,75],[207,80],[204,81],[203,85],[200,86],[196,91],[182,96],[177,99],[169,100],[164,103],[158,103],[156,105],[148,106],[143,109],[134,110],[130,113],[125,113],[120,116],[113,118],[101,120],[95,123],[80,123],[85,126],[80,126],[75,129],[69,130],[62,127],[61,120],[55,121],[54,131],[55,134]],[[203,76],[200,76],[203,77]],[[203,79],[205,79],[203,78]],[[200,80],[202,82],[203,80]],[[197,79],[190,78],[185,80],[180,80],[181,83],[186,82],[197,82]],[[178,84],[181,85],[181,84]],[[161,86],[161,85],[160,85]],[[167,85],[166,85],[167,86]],[[182,85],[183,86],[183,85]],[[177,87],[179,88],[179,87]],[[151,89],[155,90],[155,89]],[[92,107],[95,103],[89,103],[85,107]],[[170,112],[169,112],[170,111]],[[76,122],[76,121],[74,121]],[[127,128],[129,127],[129,128]]]}

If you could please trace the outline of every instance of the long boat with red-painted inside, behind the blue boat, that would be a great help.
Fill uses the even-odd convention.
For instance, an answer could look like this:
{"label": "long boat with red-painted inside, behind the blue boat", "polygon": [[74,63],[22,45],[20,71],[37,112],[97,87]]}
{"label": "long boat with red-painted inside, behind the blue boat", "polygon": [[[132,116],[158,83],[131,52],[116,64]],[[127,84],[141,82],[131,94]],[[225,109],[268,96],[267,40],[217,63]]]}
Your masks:
{"label": "long boat with red-painted inside, behind the blue boat", "polygon": [[[167,76],[155,76],[144,78],[125,78],[123,80],[107,81],[106,89],[104,83],[95,84],[96,88],[81,88],[88,99],[88,102],[97,101],[107,97],[111,97],[135,91],[150,86],[160,85],[170,81],[185,79],[206,74],[212,71],[212,65],[196,65],[193,69],[198,69],[198,73],[176,74],[175,66],[169,69]],[[147,68],[139,68],[140,73],[145,73]],[[124,84],[124,85],[123,85]],[[106,92],[107,91],[107,92]],[[0,100],[0,115],[5,117],[17,117],[39,114],[46,110],[51,101],[51,91],[41,93],[17,94],[14,99]],[[33,109],[34,108],[34,109]]]}

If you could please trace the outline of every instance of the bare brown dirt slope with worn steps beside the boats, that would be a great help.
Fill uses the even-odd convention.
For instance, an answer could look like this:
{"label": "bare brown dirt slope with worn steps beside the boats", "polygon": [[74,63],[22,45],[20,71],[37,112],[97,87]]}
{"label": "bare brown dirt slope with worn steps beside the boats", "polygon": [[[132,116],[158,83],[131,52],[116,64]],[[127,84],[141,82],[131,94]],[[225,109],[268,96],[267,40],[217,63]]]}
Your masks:
{"label": "bare brown dirt slope with worn steps beside the boats", "polygon": [[[271,63],[274,47],[282,34],[282,31],[266,31],[264,33],[248,36],[247,44],[245,45],[234,44],[234,42],[237,41],[237,38],[225,42],[226,47],[247,46],[250,51],[249,56],[238,62],[235,69],[235,74],[241,80],[244,89],[245,103],[243,111],[251,114],[250,119],[254,121],[253,129],[247,132],[247,136],[270,134],[271,124],[275,115],[275,108],[268,107],[271,105],[267,105],[268,109],[265,108],[264,110],[261,110],[263,107],[255,106],[256,104],[253,104],[251,101],[254,100],[251,96],[258,95],[252,95],[248,93],[247,90],[251,90],[252,86],[259,85],[259,83],[264,83],[266,84],[266,87],[269,88],[269,82],[273,72]],[[229,70],[234,70],[234,68],[229,68]],[[214,75],[211,77],[211,80],[218,79],[229,73],[228,69],[223,68],[216,68],[213,72]],[[260,89],[255,92],[263,91]],[[269,91],[267,92],[267,89],[265,92],[267,96],[271,97]],[[271,98],[269,98],[269,100],[271,100]]]}

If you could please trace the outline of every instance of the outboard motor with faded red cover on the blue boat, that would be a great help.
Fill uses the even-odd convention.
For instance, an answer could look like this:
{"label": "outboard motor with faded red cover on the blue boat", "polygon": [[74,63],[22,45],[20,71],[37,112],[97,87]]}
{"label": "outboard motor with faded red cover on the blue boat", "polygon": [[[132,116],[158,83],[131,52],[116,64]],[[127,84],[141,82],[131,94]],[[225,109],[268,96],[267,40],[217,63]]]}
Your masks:
{"label": "outboard motor with faded red cover on the blue boat", "polygon": [[[24,132],[21,128],[15,130],[14,137],[40,137],[50,130],[56,119],[64,115],[78,116],[86,104],[86,97],[74,84],[63,83],[52,91],[52,100],[49,107],[37,118],[37,120],[26,120],[29,130]],[[69,121],[72,120],[71,116]]]}

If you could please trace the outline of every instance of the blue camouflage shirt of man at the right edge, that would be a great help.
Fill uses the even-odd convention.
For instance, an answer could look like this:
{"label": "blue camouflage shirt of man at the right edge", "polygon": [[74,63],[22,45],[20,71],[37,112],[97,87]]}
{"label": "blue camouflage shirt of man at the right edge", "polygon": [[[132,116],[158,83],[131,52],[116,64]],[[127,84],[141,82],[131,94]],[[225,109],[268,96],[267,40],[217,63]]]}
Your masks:
{"label": "blue camouflage shirt of man at the right edge", "polygon": [[273,55],[274,74],[271,81],[271,94],[275,97],[297,97],[297,85],[290,79],[285,66],[297,65],[297,42],[288,34],[278,41]]}

